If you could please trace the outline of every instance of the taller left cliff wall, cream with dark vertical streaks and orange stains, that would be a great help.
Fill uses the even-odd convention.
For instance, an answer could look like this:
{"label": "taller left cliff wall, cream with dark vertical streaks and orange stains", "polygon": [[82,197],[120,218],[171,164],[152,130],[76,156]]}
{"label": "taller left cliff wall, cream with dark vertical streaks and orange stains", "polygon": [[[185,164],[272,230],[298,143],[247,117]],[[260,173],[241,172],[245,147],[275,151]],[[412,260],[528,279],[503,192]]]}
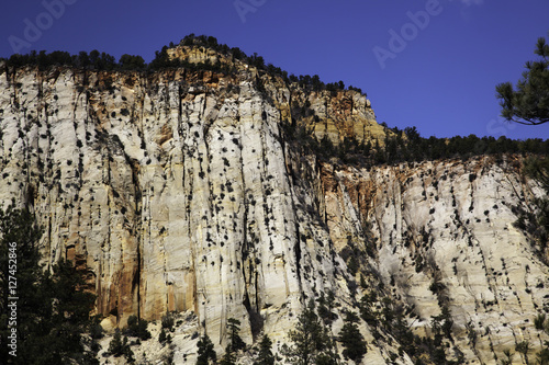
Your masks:
{"label": "taller left cliff wall, cream with dark vertical streaks and orange stains", "polygon": [[27,68],[0,90],[0,198],[36,212],[46,263],[86,270],[112,324],[191,310],[251,342],[345,285],[253,75]]}

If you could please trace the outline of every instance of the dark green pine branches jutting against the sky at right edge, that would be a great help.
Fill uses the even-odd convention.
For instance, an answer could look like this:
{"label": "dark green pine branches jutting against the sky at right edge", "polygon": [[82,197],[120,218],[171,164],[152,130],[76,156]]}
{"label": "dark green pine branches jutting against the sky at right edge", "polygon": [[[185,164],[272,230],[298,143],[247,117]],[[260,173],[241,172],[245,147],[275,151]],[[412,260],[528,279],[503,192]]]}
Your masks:
{"label": "dark green pine branches jutting against the sky at right edge", "polygon": [[526,62],[516,90],[511,82],[495,88],[502,116],[507,121],[526,125],[549,122],[549,45],[544,37],[538,39],[534,53],[541,59]]}

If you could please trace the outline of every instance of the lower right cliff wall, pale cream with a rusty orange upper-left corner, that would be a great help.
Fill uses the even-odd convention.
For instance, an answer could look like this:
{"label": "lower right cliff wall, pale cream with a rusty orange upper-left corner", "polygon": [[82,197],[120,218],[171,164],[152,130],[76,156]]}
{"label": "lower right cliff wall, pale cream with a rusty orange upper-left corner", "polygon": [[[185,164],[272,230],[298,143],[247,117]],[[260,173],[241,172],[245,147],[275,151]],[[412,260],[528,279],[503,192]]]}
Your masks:
{"label": "lower right cliff wall, pale cream with a rusty orange upper-left corner", "polygon": [[519,167],[512,157],[482,157],[344,167],[324,178],[337,186],[326,192],[334,244],[360,232],[358,221],[368,227],[377,254],[370,264],[390,297],[411,308],[413,331],[429,335],[446,307],[453,321],[446,344],[470,364],[496,364],[517,343],[541,343],[534,318],[547,308],[548,267],[513,226],[513,207],[542,191],[520,178]]}

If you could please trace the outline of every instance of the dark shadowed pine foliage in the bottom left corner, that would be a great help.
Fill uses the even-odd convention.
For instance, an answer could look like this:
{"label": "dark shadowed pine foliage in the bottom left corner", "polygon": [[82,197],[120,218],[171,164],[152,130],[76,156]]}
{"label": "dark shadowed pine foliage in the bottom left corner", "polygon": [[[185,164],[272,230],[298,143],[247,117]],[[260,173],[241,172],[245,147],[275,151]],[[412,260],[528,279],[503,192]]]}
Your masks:
{"label": "dark shadowed pine foliage in the bottom left corner", "polygon": [[[89,343],[87,347],[96,350],[86,350],[82,337],[92,323],[89,312],[96,297],[85,290],[82,275],[70,262],[55,264],[53,274],[43,271],[37,248],[41,235],[27,210],[13,206],[0,210],[0,285],[9,287],[9,282],[13,282],[10,276],[16,278],[14,292],[1,290],[3,323],[10,318],[9,297],[19,297],[18,356],[10,356],[10,349],[2,345],[0,357],[12,364],[97,364],[97,344]],[[0,343],[9,343],[8,331],[1,327]]]}

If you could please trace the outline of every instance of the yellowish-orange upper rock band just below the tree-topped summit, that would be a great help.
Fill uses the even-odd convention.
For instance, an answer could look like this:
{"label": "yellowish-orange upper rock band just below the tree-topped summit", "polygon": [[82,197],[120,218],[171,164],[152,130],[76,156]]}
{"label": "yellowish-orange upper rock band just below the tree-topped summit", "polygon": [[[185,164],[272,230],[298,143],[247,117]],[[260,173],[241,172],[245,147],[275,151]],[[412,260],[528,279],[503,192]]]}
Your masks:
{"label": "yellowish-orange upper rock band just below the tree-topped summit", "polygon": [[178,45],[168,48],[167,54],[172,60],[217,64],[255,79],[259,89],[265,88],[273,106],[279,110],[281,121],[311,129],[318,140],[326,136],[338,145],[345,138],[356,138],[383,146],[385,134],[393,135],[392,130],[376,122],[370,101],[358,92],[316,91],[298,87],[296,83],[289,87],[279,76],[266,75],[232,54],[208,47]]}

